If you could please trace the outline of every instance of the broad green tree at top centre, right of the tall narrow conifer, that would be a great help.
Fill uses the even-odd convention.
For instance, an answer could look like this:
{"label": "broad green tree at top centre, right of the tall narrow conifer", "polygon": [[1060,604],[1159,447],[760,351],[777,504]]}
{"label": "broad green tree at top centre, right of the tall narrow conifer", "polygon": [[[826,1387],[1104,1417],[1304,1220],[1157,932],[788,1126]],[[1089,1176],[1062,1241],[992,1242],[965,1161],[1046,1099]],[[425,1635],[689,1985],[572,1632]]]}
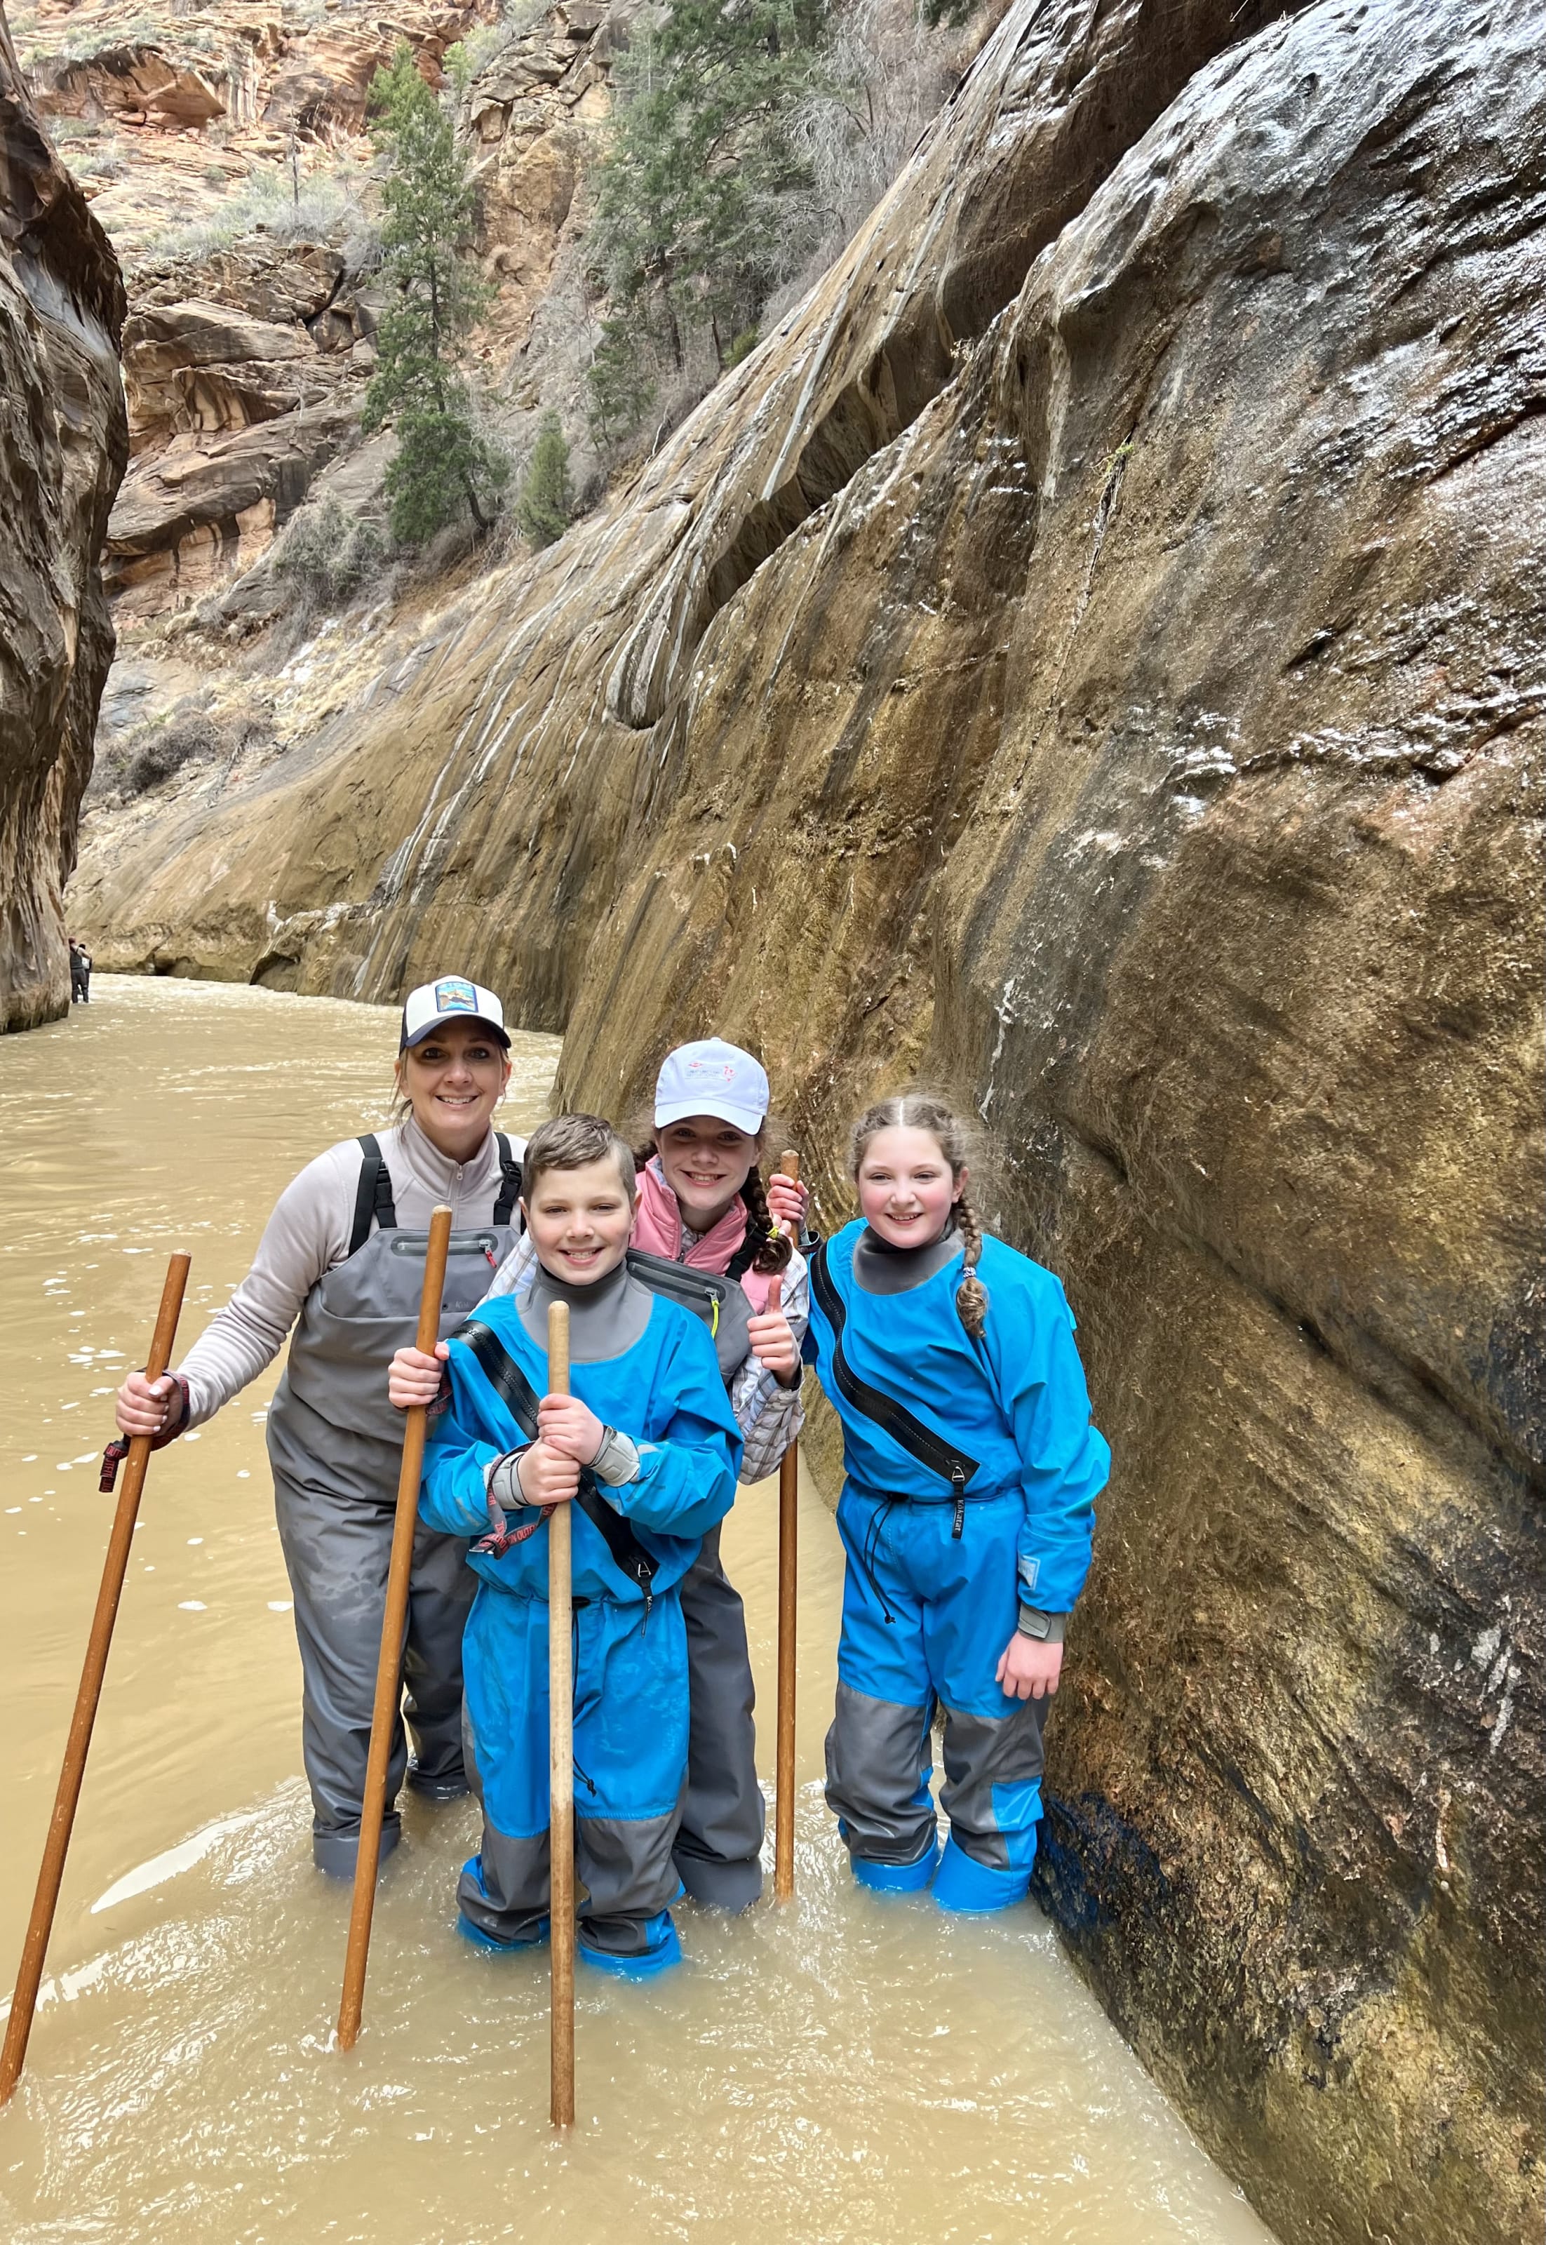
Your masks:
{"label": "broad green tree at top centre, right of the tall narrow conifer", "polygon": [[675,370],[691,328],[723,366],[799,263],[810,166],[794,128],[823,29],[823,0],[671,0],[617,65],[590,265],[613,317],[644,321]]}

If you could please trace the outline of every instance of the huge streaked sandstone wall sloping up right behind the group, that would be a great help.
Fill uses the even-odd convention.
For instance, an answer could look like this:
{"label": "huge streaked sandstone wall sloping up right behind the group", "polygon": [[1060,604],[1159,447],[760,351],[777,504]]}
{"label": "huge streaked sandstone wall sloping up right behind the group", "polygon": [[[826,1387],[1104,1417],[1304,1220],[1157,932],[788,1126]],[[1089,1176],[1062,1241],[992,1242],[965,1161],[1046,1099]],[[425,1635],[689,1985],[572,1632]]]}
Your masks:
{"label": "huge streaked sandstone wall sloping up right behind the group", "polygon": [[1539,2234],[1544,43],[1021,0],[628,494],[79,887],[590,1107],[756,1042],[828,1221],[985,1118],[1117,1459],[1041,1895],[1290,2241]]}

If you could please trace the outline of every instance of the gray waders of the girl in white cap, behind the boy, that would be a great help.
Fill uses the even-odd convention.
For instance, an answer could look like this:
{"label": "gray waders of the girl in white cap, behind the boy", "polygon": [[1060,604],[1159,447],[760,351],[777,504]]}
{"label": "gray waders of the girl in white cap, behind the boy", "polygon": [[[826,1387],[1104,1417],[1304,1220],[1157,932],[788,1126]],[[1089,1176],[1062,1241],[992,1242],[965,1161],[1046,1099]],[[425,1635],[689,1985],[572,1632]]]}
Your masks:
{"label": "gray waders of the girl in white cap, behind the boy", "polygon": [[[714,1331],[725,1385],[747,1360],[752,1304],[740,1286],[745,1264],[725,1277],[628,1253],[628,1268],[655,1293],[693,1309]],[[705,1298],[709,1298],[705,1302]],[[752,1655],[740,1592],[720,1565],[718,1527],[682,1576],[691,1731],[687,1794],[671,1861],[693,1897],[720,1910],[749,1910],[763,1893],[763,1789],[756,1783]]]}

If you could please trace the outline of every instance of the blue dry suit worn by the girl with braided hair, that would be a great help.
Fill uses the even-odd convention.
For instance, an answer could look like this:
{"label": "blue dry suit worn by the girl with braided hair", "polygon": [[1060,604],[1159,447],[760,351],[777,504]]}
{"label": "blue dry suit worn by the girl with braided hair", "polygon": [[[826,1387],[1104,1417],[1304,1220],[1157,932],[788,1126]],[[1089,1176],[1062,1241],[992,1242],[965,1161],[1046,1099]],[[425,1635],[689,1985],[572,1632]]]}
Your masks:
{"label": "blue dry suit worn by the girl with braided hair", "polygon": [[[933,1881],[945,1908],[1003,1908],[1037,1854],[1046,1699],[1003,1693],[994,1670],[1023,1610],[1057,1616],[1079,1596],[1111,1453],[1050,1271],[987,1235],[974,1340],[960,1250],[909,1291],[866,1293],[862,1235],[850,1224],[817,1253],[806,1343],[846,1466],[826,1796],[864,1884]],[[936,1704],[951,1827],[938,1870]]]}

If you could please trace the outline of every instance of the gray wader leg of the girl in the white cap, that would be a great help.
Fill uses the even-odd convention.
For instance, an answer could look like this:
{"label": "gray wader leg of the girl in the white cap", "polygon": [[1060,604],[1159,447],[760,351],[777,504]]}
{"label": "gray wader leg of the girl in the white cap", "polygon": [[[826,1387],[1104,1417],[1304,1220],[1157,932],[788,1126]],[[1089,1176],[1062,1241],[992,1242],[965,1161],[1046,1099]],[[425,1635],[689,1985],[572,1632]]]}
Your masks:
{"label": "gray wader leg of the girl in the white cap", "polygon": [[740,1594],[720,1567],[720,1531],[682,1578],[691,1731],[675,1870],[693,1902],[745,1910],[763,1893],[763,1789],[756,1783],[752,1655]]}

